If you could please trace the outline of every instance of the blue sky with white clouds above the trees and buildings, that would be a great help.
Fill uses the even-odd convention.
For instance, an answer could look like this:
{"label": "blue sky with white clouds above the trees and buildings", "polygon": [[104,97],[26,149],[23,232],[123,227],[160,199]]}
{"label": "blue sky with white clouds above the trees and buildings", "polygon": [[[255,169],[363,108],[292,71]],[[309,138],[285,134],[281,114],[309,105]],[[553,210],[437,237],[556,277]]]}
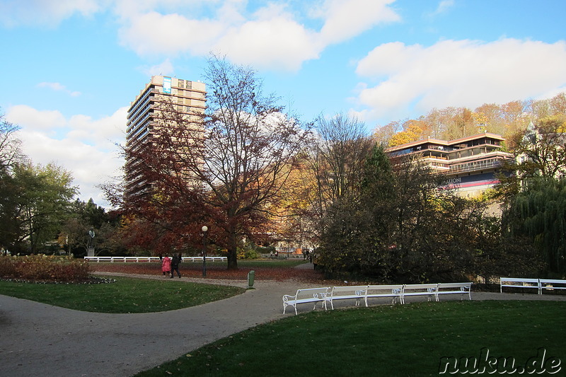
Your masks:
{"label": "blue sky with white clouds above the trees and buildings", "polygon": [[152,75],[250,66],[304,122],[369,132],[433,108],[566,91],[564,0],[0,0],[0,114],[33,163],[108,207],[127,109]]}

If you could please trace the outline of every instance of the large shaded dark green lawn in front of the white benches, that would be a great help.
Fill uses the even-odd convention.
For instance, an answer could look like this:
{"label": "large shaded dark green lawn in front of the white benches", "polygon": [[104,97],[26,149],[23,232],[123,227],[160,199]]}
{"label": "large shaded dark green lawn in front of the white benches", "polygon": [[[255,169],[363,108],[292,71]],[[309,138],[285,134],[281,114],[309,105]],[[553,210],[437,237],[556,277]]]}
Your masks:
{"label": "large shaded dark green lawn in front of the white benches", "polygon": [[[478,368],[499,375],[521,371],[533,356],[540,361],[540,348],[545,360],[536,372],[556,371],[553,362],[566,362],[565,312],[562,301],[445,301],[313,311],[254,327],[137,376],[437,376],[444,361],[487,360],[481,356],[487,350],[499,369],[485,361]],[[501,357],[507,358],[506,366]],[[454,362],[450,365],[445,375],[454,371]],[[463,364],[458,368],[466,371]],[[473,371],[472,364],[468,368]]]}

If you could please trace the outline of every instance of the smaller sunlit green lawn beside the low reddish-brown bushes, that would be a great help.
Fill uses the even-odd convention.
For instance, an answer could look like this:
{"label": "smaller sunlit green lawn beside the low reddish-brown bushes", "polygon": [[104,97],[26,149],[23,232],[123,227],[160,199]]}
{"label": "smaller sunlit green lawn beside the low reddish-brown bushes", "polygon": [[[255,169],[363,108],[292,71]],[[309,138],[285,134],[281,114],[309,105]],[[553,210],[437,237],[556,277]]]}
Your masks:
{"label": "smaller sunlit green lawn beside the low reddish-brown bushes", "polygon": [[33,284],[0,281],[0,294],[96,313],[151,313],[197,306],[246,289],[175,279],[112,277],[110,284]]}

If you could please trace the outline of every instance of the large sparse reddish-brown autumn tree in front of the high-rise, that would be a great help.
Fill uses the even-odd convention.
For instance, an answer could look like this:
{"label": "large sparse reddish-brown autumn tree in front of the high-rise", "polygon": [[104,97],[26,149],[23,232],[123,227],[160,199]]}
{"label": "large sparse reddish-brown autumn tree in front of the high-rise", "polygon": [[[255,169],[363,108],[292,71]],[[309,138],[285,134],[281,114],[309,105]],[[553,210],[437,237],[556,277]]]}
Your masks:
{"label": "large sparse reddish-brown autumn tree in front of the high-rise", "polygon": [[208,63],[206,113],[187,118],[164,100],[156,137],[127,151],[143,161],[139,168],[152,186],[127,209],[195,241],[207,225],[209,239],[227,250],[228,268],[236,269],[238,245],[265,232],[307,133],[275,95],[263,93],[256,71],[216,56]]}

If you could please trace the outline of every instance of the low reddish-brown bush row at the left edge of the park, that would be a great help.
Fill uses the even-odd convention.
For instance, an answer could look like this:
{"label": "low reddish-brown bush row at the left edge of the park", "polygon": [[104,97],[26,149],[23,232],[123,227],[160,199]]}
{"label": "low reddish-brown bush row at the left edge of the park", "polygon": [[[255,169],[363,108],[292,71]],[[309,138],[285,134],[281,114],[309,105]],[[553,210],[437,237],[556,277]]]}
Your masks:
{"label": "low reddish-brown bush row at the left edge of the park", "polygon": [[55,255],[0,256],[0,277],[47,282],[81,282],[89,278],[84,260]]}

